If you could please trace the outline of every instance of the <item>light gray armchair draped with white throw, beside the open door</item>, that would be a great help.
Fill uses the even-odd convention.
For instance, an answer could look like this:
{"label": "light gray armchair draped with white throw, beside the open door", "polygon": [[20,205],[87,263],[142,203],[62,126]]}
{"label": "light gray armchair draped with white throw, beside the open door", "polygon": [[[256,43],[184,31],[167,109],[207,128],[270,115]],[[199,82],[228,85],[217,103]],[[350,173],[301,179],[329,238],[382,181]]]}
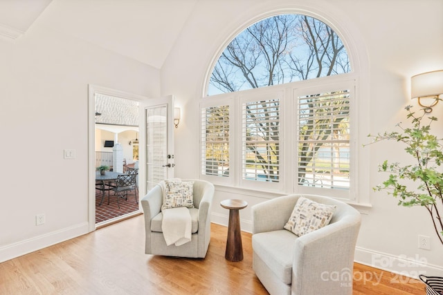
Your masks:
{"label": "light gray armchair draped with white throw, beside the open door", "polygon": [[[183,180],[190,181],[190,180]],[[190,208],[192,219],[191,241],[181,246],[166,245],[161,229],[163,190],[161,184],[151,189],[141,200],[145,213],[145,253],[162,256],[204,258],[210,241],[210,206],[214,185],[204,180],[192,180],[195,208]]]}

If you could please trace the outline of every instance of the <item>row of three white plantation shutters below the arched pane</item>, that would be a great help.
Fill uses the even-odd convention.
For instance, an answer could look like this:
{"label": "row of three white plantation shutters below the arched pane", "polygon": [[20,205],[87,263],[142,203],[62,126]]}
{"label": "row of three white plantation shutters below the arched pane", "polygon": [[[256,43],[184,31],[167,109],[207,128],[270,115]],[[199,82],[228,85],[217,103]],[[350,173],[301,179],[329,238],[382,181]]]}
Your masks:
{"label": "row of three white plantation shutters below the arched pane", "polygon": [[355,80],[301,86],[201,102],[201,178],[254,191],[356,200]]}

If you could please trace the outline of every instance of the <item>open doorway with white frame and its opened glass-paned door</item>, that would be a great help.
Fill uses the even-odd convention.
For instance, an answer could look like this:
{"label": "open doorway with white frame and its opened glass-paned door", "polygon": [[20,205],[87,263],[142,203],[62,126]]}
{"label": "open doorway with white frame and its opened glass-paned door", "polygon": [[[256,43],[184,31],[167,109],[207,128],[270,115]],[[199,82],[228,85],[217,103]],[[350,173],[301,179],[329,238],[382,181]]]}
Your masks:
{"label": "open doorway with white frame and its opened glass-paned door", "polygon": [[[107,111],[101,111],[96,106],[96,97],[104,97],[107,103]],[[125,116],[123,108],[127,106],[111,106],[109,97],[113,99],[120,99],[121,104],[136,104],[132,113],[137,115]],[[138,111],[135,111],[138,109]],[[137,122],[133,121],[118,121],[110,122],[111,119],[105,119],[106,113],[114,113],[114,120],[123,120],[125,117],[138,117]],[[130,113],[130,112],[129,112]],[[100,129],[96,129],[100,125]],[[165,178],[174,177],[174,97],[162,97],[159,99],[147,99],[141,95],[134,95],[122,91],[115,91],[110,88],[89,85],[89,231],[96,230],[97,227],[102,227],[110,223],[123,220],[138,214],[143,213],[140,209],[139,196],[145,196],[147,190],[156,185],[159,181]],[[100,131],[99,131],[100,130]],[[111,139],[109,133],[114,135],[114,140]],[[139,132],[137,132],[139,131]],[[97,135],[96,135],[97,133]],[[100,133],[100,136],[98,135]],[[135,137],[134,137],[135,135]],[[140,143],[138,144],[138,140]],[[114,141],[114,142],[111,142]],[[106,164],[103,162],[96,162],[96,151],[105,149],[105,143],[111,149],[112,146],[112,162]],[[97,146],[97,149],[96,149]],[[115,149],[121,149],[121,153],[114,153]],[[107,151],[105,149],[105,151]],[[123,156],[125,155],[125,156]],[[132,159],[131,159],[132,158]],[[129,159],[129,160],[128,160]],[[132,162],[130,162],[132,160]],[[138,161],[137,161],[138,160]],[[138,164],[138,162],[143,164]],[[128,171],[136,169],[136,201],[130,195],[125,198],[114,197],[114,190],[100,191],[95,186],[98,171],[97,167],[109,166],[112,173],[129,174]],[[137,166],[138,165],[138,166]],[[119,172],[122,171],[122,172]],[[106,174],[107,172],[105,172]],[[134,173],[134,171],[132,171]],[[111,186],[115,185],[111,183]],[[108,186],[106,188],[109,188]],[[98,201],[96,192],[101,194],[100,201]],[[105,194],[103,194],[103,192]],[[119,200],[117,207],[120,204],[134,202],[138,206],[138,210],[132,213],[123,213],[123,215],[116,218],[111,218],[96,224],[96,209],[98,207],[105,208],[113,201]],[[103,198],[104,197],[104,198]],[[103,199],[103,201],[101,201]],[[120,202],[121,200],[121,202]],[[101,202],[101,204],[100,204]],[[97,204],[97,205],[96,205]],[[135,210],[135,209],[134,209]]]}

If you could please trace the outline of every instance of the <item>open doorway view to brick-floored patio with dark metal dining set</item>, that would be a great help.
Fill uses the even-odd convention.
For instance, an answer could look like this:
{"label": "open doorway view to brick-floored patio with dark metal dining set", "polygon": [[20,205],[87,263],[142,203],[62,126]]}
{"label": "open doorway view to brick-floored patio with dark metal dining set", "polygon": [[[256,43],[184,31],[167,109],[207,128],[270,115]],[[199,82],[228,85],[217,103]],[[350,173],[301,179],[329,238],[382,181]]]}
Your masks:
{"label": "open doorway view to brick-floored patio with dark metal dining set", "polygon": [[[138,177],[139,102],[90,86],[93,99],[93,172],[96,227],[140,213]],[[91,104],[91,102],[90,102]],[[90,129],[91,130],[91,129]],[[91,166],[91,163],[90,165]],[[91,204],[91,202],[90,202]],[[90,215],[91,216],[91,215]]]}

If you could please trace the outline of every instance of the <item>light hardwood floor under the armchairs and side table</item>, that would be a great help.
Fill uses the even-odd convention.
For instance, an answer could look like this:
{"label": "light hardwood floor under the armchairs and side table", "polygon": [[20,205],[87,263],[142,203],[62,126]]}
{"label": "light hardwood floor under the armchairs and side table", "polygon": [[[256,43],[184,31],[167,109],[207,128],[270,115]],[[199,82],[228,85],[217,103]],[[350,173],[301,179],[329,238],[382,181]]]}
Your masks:
{"label": "light hardwood floor under the armchairs and side table", "polygon": [[[252,269],[251,234],[242,233],[244,260],[231,263],[226,233],[211,226],[205,259],[151,256],[143,216],[136,216],[0,263],[0,294],[268,294]],[[354,294],[426,294],[419,281],[393,279],[355,264]]]}

